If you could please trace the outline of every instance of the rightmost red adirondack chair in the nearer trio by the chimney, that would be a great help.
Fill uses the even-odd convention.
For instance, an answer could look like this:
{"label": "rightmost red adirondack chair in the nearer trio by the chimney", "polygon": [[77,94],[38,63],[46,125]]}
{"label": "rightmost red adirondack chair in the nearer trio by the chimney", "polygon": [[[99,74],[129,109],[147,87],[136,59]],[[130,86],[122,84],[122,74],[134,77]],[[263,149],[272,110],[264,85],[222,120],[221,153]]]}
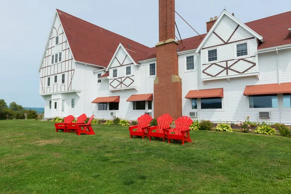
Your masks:
{"label": "rightmost red adirondack chair in the nearer trio by the chimney", "polygon": [[193,120],[188,116],[182,116],[175,120],[176,128],[174,129],[167,129],[166,135],[169,141],[169,144],[171,143],[171,139],[174,139],[176,141],[182,140],[182,145],[184,145],[184,141],[186,142],[192,142],[189,134],[189,127],[193,123]]}

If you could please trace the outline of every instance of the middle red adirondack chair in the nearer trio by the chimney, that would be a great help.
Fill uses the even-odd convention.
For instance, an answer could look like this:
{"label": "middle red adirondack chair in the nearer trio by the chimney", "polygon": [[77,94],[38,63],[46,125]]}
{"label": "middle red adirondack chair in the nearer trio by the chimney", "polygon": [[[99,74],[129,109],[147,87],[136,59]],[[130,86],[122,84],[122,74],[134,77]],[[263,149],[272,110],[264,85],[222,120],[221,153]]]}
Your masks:
{"label": "middle red adirondack chair in the nearer trio by the chimney", "polygon": [[164,142],[165,137],[166,137],[166,129],[171,128],[170,125],[173,120],[174,119],[168,113],[165,113],[159,118],[157,118],[158,126],[147,128],[149,141],[151,141],[151,137],[156,137],[156,138],[162,137],[162,141]]}

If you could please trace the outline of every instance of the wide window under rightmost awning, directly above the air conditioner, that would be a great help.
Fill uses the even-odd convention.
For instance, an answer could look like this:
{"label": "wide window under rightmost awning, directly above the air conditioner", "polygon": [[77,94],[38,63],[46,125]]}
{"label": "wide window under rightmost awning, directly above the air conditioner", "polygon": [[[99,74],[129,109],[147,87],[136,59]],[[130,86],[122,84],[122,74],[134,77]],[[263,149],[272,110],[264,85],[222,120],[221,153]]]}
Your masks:
{"label": "wide window under rightmost awning, directly above the air conditioner", "polygon": [[250,108],[278,108],[277,95],[249,96]]}

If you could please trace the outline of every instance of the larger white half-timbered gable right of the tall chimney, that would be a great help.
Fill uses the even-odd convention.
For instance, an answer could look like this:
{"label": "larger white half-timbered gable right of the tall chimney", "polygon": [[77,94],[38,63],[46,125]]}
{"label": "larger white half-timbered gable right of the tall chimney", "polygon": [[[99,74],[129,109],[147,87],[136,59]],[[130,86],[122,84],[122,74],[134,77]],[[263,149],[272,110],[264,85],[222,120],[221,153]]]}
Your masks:
{"label": "larger white half-timbered gable right of the tall chimney", "polygon": [[262,36],[224,10],[196,50],[202,81],[259,76],[258,42]]}

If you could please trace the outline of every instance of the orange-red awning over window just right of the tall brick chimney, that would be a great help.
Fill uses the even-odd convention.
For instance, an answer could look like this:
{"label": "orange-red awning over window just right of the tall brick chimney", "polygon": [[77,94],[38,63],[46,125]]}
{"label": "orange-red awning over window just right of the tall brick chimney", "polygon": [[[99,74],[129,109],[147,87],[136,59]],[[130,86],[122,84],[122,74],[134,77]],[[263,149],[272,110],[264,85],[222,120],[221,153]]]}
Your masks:
{"label": "orange-red awning over window just right of the tall brick chimney", "polygon": [[190,90],[185,98],[223,97],[223,88]]}

